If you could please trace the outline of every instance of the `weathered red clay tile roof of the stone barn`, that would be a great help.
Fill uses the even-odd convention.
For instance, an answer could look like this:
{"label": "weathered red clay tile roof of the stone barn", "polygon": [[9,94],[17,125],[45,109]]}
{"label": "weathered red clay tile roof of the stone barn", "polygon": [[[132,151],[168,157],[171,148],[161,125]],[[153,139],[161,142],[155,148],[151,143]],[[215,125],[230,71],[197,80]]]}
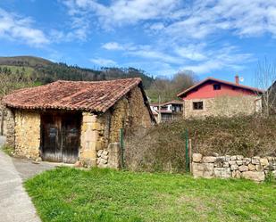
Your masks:
{"label": "weathered red clay tile roof of the stone barn", "polygon": [[123,95],[142,82],[141,78],[111,81],[56,81],[25,88],[4,97],[8,107],[105,112]]}

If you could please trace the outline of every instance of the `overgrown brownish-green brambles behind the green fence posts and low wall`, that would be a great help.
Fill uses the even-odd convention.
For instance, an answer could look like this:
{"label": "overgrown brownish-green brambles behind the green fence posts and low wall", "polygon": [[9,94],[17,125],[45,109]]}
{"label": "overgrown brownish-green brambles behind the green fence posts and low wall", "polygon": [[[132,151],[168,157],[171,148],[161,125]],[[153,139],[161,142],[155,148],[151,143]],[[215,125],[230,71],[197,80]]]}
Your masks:
{"label": "overgrown brownish-green brambles behind the green fence posts and low wall", "polygon": [[129,169],[148,171],[185,170],[185,138],[193,152],[276,155],[276,117],[180,119],[128,134],[126,161]]}

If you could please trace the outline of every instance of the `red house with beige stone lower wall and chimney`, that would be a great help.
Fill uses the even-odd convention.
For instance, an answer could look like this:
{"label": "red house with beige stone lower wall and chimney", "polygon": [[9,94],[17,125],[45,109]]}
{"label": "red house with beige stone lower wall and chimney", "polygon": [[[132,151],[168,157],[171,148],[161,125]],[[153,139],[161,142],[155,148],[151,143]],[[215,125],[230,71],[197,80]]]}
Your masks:
{"label": "red house with beige stone lower wall and chimney", "polygon": [[206,78],[184,90],[178,97],[184,101],[184,118],[205,116],[251,115],[262,110],[263,91],[217,78]]}

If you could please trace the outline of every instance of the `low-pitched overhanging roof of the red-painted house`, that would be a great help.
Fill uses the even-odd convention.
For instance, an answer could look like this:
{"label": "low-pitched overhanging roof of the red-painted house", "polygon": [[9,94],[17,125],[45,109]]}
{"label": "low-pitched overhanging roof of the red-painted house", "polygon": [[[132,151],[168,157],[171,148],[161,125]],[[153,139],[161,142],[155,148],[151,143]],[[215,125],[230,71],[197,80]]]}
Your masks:
{"label": "low-pitched overhanging roof of the red-painted house", "polygon": [[263,94],[263,90],[258,89],[258,88],[255,88],[255,87],[244,86],[244,85],[236,84],[236,83],[233,83],[233,82],[224,81],[224,80],[218,79],[218,78],[205,78],[204,80],[200,81],[200,82],[197,83],[196,85],[191,86],[191,87],[189,87],[188,89],[186,89],[186,90],[180,92],[177,96],[178,96],[178,97],[183,97],[184,95],[187,95],[187,93],[188,93],[189,91],[191,91],[192,89],[197,88],[198,86],[201,86],[201,85],[203,85],[204,83],[206,83],[206,82],[208,82],[208,81],[214,81],[214,82],[222,83],[222,84],[225,84],[225,85],[235,86],[235,87],[238,87],[238,88],[242,88],[242,89],[245,89],[245,90],[249,90],[249,91],[252,91],[252,92],[255,92],[255,93]]}

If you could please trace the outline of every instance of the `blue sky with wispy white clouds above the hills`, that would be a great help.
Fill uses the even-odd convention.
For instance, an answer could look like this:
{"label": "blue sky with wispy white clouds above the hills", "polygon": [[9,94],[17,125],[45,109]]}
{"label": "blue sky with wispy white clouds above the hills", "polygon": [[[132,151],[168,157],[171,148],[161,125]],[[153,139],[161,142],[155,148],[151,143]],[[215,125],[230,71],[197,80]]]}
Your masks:
{"label": "blue sky with wispy white clouds above the hills", "polygon": [[276,59],[275,40],[275,0],[0,1],[0,56],[154,76],[238,74],[254,86],[257,62]]}

